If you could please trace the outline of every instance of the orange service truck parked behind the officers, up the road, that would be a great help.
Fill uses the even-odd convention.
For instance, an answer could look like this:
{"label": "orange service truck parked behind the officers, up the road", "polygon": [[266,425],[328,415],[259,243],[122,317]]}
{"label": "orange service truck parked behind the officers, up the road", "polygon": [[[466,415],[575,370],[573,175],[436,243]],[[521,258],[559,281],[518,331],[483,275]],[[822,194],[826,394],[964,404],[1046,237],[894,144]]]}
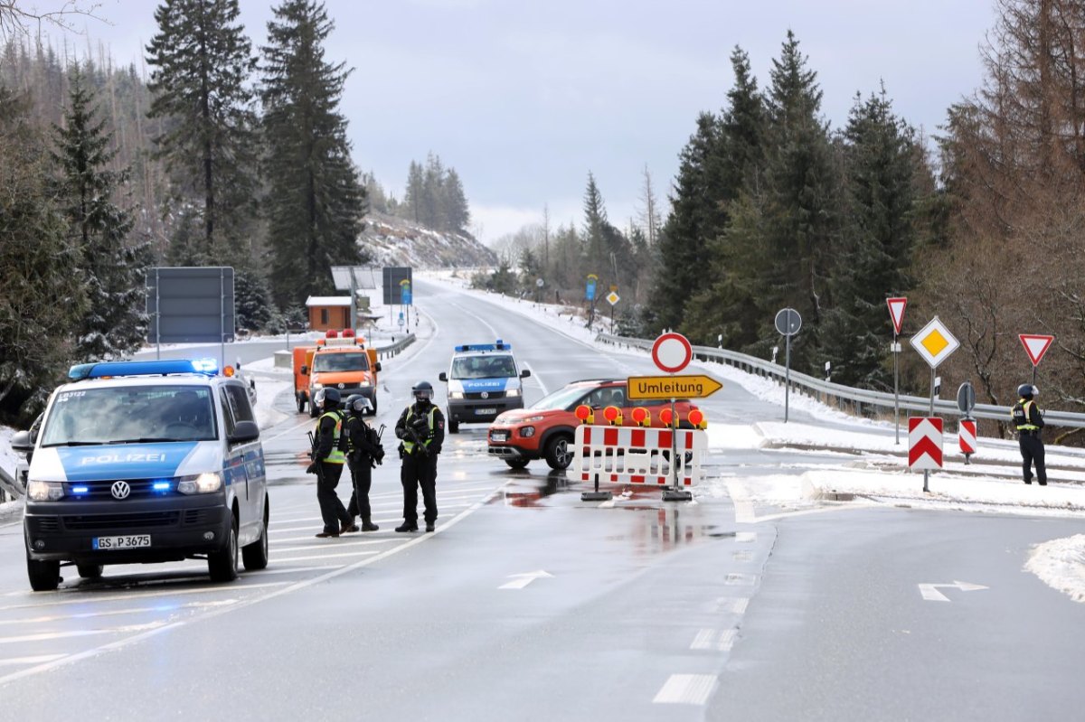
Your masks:
{"label": "orange service truck parked behind the officers, up the road", "polygon": [[294,347],[294,398],[297,412],[309,405],[309,415],[320,413],[312,398],[321,388],[336,388],[343,399],[361,394],[373,404],[376,414],[376,373],[381,362],[376,349],[366,348],[360,338],[329,332],[328,338],[317,339],[316,346]]}

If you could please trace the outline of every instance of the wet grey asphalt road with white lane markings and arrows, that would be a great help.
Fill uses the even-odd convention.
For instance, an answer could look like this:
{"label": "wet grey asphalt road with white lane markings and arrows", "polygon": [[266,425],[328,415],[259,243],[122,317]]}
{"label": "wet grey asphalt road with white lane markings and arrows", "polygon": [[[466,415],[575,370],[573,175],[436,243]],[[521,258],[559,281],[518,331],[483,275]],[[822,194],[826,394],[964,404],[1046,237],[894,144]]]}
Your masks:
{"label": "wet grey asphalt road with white lane markings and arrows", "polygon": [[[378,423],[418,381],[439,398],[457,344],[513,344],[528,403],[574,378],[655,371],[422,279],[414,299],[426,320],[385,364]],[[1081,714],[1083,607],[1022,570],[1032,544],[1080,523],[848,505],[756,507],[739,523],[726,497],[664,503],[655,490],[585,503],[545,464],[487,459],[485,426],[463,425],[441,459],[436,533],[392,531],[390,453],[374,474],[381,530],[318,540],[302,459],[312,422],[289,396],[273,402],[288,417],[264,434],[265,571],[216,585],[201,562],[107,567],[35,594],[21,526],[0,526],[5,719]],[[702,405],[724,423],[780,415],[735,384]],[[758,450],[710,465],[741,480],[832,462]]]}

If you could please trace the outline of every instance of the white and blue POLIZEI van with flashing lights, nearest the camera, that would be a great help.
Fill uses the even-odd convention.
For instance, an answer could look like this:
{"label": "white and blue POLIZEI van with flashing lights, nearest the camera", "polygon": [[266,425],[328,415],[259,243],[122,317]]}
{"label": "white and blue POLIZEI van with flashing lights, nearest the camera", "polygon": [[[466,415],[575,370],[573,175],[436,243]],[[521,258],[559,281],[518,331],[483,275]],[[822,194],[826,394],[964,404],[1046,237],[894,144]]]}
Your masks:
{"label": "white and blue POLIZEI van with flashing lights, nearest the camera", "polygon": [[[228,370],[225,370],[228,371]],[[35,591],[61,565],[206,558],[213,581],[268,563],[264,449],[248,389],[214,360],[72,366],[36,431],[12,448],[29,470],[23,531]],[[33,435],[33,436],[31,436]]]}

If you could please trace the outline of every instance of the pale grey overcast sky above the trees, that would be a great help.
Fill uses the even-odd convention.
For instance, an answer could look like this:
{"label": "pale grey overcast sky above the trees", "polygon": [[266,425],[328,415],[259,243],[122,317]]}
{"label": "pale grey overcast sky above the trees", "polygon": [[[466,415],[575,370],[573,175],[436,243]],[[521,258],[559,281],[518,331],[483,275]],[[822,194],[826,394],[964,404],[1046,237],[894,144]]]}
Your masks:
{"label": "pale grey overcast sky above the trees", "polygon": [[[540,220],[544,205],[554,225],[580,225],[589,170],[618,227],[640,205],[646,165],[665,201],[698,113],[726,100],[733,47],[764,87],[789,28],[833,128],[857,91],[884,81],[896,112],[936,133],[980,83],[992,2],[327,0],[327,51],[356,68],[342,111],[358,166],[401,198],[408,164],[433,151],[463,181],[472,230],[493,242]],[[255,46],[271,4],[241,0]],[[139,63],[155,7],[102,0],[110,24],[89,22],[87,35],[117,63]]]}

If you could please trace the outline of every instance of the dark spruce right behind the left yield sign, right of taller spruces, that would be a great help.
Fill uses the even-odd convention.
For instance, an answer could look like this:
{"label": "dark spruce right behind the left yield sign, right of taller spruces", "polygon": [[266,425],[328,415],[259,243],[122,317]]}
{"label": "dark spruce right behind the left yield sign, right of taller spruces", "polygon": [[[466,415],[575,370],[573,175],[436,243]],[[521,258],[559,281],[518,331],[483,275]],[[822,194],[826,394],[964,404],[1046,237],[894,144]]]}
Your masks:
{"label": "dark spruce right behind the left yield sign, right of taller spruces", "polygon": [[882,88],[866,101],[856,96],[843,137],[847,212],[822,333],[825,358],[835,381],[888,389],[885,298],[914,285],[914,136]]}

